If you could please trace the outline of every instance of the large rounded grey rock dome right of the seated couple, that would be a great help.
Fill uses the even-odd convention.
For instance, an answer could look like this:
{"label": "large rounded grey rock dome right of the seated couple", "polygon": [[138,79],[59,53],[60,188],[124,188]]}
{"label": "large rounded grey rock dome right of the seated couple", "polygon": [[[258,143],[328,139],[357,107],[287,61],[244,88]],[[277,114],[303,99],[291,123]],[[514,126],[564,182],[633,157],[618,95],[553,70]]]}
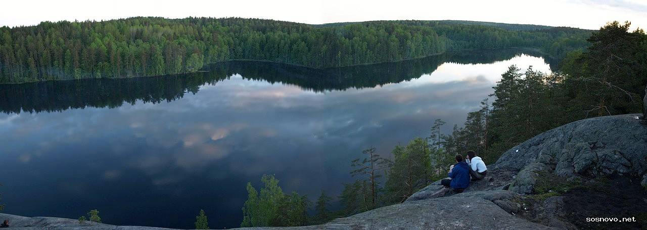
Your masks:
{"label": "large rounded grey rock dome right of the seated couple", "polygon": [[567,179],[611,174],[641,177],[647,186],[647,126],[638,114],[595,117],[541,133],[505,152],[494,168],[517,170],[510,190],[532,192],[538,172]]}

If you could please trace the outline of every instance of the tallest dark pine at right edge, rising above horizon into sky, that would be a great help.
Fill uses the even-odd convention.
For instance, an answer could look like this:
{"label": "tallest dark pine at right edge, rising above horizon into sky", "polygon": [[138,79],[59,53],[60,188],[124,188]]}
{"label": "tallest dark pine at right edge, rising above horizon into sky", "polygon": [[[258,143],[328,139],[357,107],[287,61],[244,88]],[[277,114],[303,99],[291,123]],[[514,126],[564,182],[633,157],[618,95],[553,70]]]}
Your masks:
{"label": "tallest dark pine at right edge, rising above horizon into sky", "polygon": [[587,51],[567,68],[569,93],[580,118],[640,111],[640,95],[647,84],[647,35],[630,22],[608,23],[587,39]]}

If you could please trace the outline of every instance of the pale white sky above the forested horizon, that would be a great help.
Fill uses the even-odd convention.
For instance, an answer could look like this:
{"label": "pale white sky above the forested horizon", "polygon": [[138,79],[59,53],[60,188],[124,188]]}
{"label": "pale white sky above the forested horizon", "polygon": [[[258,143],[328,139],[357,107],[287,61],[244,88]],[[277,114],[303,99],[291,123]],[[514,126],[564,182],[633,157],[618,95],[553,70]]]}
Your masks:
{"label": "pale white sky above the forested horizon", "polygon": [[395,19],[469,20],[599,29],[608,21],[647,27],[647,0],[6,0],[0,26],[40,21],[107,20],[133,16],[254,17],[309,24]]}

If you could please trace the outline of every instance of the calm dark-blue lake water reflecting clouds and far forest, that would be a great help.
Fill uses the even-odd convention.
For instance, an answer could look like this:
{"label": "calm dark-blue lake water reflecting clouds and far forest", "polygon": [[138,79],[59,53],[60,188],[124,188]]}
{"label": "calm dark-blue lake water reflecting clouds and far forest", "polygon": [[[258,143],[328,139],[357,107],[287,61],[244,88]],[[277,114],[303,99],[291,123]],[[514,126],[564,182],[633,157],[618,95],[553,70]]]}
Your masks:
{"label": "calm dark-blue lake water reflecting clouds and far forest", "polygon": [[370,146],[388,156],[463,124],[509,65],[548,72],[528,51],[463,51],[315,70],[225,62],[180,76],[0,85],[0,197],[5,213],[104,223],[237,227],[247,199],[276,174],[316,200],[352,181]]}

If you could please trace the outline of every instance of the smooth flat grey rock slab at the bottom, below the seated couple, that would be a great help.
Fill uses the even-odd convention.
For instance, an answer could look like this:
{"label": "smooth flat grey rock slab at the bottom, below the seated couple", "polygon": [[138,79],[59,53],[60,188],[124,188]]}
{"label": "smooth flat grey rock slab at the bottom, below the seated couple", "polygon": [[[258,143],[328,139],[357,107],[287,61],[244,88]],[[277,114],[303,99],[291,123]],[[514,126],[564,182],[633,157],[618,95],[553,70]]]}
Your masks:
{"label": "smooth flat grey rock slab at the bottom, below the seated couple", "polygon": [[[465,192],[382,207],[338,218],[324,229],[553,229],[517,218],[501,209],[516,196],[509,191]],[[489,200],[488,200],[489,199]],[[499,202],[500,201],[500,202]],[[468,216],[469,218],[465,218]]]}

